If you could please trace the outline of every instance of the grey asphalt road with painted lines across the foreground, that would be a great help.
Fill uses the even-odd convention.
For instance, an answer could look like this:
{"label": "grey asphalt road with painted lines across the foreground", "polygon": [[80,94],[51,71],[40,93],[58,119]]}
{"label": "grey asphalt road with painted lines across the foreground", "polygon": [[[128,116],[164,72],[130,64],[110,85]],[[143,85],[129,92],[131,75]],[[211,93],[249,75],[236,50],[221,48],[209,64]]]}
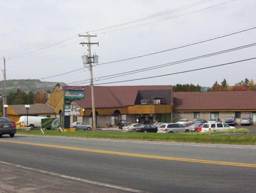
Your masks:
{"label": "grey asphalt road with painted lines across the foreground", "polygon": [[18,134],[0,138],[0,190],[255,192],[255,158],[250,145]]}

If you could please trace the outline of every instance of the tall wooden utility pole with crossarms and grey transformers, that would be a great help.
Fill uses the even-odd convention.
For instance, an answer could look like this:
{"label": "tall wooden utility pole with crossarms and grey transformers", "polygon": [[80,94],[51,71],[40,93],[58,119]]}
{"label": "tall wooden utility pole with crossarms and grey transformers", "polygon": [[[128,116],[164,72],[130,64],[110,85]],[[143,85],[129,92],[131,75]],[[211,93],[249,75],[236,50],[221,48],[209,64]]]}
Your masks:
{"label": "tall wooden utility pole with crossarms and grey transformers", "polygon": [[[93,87],[93,67],[92,63],[96,63],[95,61],[92,61],[92,53],[91,53],[91,44],[98,44],[99,42],[91,42],[90,37],[97,37],[97,35],[90,35],[87,32],[87,35],[78,35],[88,38],[88,42],[80,42],[84,46],[84,44],[87,44],[88,46],[88,63],[90,67],[90,79],[91,79],[91,92],[92,92],[92,112],[93,112],[93,131],[96,132],[96,112],[95,112],[95,97],[94,97],[94,87]],[[86,64],[86,63],[85,63]]]}

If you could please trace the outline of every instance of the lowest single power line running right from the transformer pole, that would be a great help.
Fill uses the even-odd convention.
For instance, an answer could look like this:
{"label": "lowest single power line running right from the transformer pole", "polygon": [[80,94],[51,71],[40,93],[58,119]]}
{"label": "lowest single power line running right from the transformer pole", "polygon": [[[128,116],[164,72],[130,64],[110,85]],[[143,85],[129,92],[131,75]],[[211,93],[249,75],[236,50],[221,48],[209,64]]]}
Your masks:
{"label": "lowest single power line running right from the transformer pole", "polygon": [[251,59],[256,59],[256,57],[251,57],[251,58],[247,58],[247,59],[242,59],[242,60],[238,60],[238,61],[232,61],[232,62],[223,63],[223,64],[218,64],[218,65],[211,65],[211,66],[208,66],[208,67],[201,67],[201,68],[196,68],[196,69],[190,69],[190,70],[180,71],[180,72],[175,72],[175,73],[168,73],[168,74],[155,75],[155,76],[149,76],[149,77],[143,77],[143,78],[136,78],[136,79],[129,79],[129,80],[120,80],[120,81],[113,81],[113,82],[97,83],[97,84],[94,84],[94,85],[110,84],[110,83],[119,83],[119,82],[127,82],[127,81],[134,81],[134,80],[141,80],[141,79],[149,79],[149,78],[155,78],[155,77],[162,77],[162,76],[167,76],[167,75],[174,75],[174,74],[186,73],[186,72],[190,72],[190,71],[197,71],[197,70],[202,70],[202,69],[207,69],[207,68],[213,68],[213,67],[228,65],[228,64],[232,64],[232,63],[238,63],[238,62],[242,62],[242,61],[248,61],[248,60],[251,60]]}

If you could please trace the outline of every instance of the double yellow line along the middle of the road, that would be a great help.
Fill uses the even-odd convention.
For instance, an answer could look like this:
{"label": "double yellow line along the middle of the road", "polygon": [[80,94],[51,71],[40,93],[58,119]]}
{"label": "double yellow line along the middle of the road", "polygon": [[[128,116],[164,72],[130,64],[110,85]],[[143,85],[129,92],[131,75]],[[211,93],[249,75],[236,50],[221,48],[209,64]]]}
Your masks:
{"label": "double yellow line along the middle of the road", "polygon": [[51,144],[42,144],[42,143],[8,141],[8,140],[0,140],[0,142],[8,142],[8,143],[16,143],[16,144],[27,144],[27,145],[35,145],[35,146],[43,146],[43,147],[61,148],[61,149],[96,152],[96,153],[105,153],[105,154],[114,154],[114,155],[123,155],[123,156],[132,156],[132,157],[175,160],[175,161],[196,162],[196,163],[217,164],[217,165],[230,165],[230,166],[240,166],[240,167],[256,167],[256,164],[250,164],[250,163],[237,163],[237,162],[226,162],[226,161],[213,161],[213,160],[203,160],[203,159],[190,159],[190,158],[146,155],[146,154],[137,154],[137,153],[126,153],[126,152],[118,152],[118,151],[107,151],[107,150],[88,149],[88,148],[51,145]]}

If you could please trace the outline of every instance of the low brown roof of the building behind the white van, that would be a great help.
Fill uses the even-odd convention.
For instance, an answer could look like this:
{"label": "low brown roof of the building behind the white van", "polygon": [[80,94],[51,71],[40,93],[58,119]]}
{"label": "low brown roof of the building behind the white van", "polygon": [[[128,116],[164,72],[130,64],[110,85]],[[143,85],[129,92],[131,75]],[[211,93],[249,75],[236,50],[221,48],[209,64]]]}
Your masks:
{"label": "low brown roof of the building behind the white van", "polygon": [[[25,108],[25,104],[13,104],[8,106],[13,110],[15,110],[20,115],[27,114],[27,109]],[[48,104],[43,104],[43,103],[30,104],[28,114],[55,114],[53,109],[54,108]]]}

